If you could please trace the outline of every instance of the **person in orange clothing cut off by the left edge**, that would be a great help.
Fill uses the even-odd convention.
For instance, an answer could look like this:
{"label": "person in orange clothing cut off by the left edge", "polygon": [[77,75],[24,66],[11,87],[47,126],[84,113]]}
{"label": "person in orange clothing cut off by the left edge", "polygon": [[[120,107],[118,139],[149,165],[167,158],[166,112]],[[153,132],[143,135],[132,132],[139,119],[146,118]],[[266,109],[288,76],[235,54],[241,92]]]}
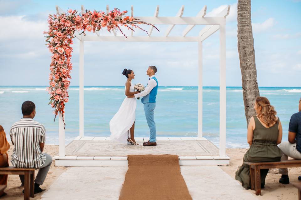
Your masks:
{"label": "person in orange clothing cut off by the left edge", "polygon": [[[8,167],[8,154],[9,143],[7,142],[6,135],[3,127],[0,125],[0,168]],[[7,185],[7,175],[0,175],[0,185]],[[0,192],[0,197],[5,192]]]}

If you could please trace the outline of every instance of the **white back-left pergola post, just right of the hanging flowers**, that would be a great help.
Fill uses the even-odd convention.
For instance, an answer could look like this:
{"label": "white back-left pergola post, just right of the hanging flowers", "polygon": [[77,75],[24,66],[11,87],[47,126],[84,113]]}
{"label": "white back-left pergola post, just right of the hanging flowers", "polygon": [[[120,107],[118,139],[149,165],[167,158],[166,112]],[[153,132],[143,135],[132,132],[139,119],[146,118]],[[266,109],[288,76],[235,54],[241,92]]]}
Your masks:
{"label": "white back-left pergola post, just right of the hanging flowers", "polygon": [[79,41],[79,137],[84,137],[84,37]]}

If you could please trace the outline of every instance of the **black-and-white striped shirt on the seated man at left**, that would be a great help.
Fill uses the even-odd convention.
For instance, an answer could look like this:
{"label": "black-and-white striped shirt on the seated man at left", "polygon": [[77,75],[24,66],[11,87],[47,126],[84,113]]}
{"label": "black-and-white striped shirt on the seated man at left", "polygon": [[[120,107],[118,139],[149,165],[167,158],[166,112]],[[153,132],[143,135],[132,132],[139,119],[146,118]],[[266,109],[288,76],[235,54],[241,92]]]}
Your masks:
{"label": "black-and-white striped shirt on the seated man at left", "polygon": [[45,127],[31,118],[22,118],[10,128],[14,145],[11,163],[16,168],[40,168],[46,160],[40,149],[45,143]]}

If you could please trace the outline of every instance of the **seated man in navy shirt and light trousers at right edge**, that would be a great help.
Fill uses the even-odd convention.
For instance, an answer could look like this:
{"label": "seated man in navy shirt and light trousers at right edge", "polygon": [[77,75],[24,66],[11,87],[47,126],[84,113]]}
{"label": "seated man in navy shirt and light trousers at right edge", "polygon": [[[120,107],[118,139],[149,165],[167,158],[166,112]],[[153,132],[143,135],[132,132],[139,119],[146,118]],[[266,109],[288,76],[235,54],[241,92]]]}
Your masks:
{"label": "seated man in navy shirt and light trousers at right edge", "polygon": [[[288,157],[301,160],[301,98],[299,99],[299,112],[292,115],[288,127],[288,142],[280,143],[279,148],[283,152],[281,161]],[[282,174],[279,183],[289,184],[288,168],[279,169]]]}

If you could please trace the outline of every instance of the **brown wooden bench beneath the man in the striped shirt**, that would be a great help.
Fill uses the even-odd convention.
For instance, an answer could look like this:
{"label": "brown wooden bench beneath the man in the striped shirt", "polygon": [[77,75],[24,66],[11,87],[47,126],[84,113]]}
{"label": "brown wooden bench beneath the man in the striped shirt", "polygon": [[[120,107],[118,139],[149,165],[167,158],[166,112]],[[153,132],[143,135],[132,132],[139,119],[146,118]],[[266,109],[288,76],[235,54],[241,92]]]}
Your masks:
{"label": "brown wooden bench beneath the man in the striped shirt", "polygon": [[24,175],[24,200],[34,197],[34,170],[33,168],[0,168],[0,174]]}

